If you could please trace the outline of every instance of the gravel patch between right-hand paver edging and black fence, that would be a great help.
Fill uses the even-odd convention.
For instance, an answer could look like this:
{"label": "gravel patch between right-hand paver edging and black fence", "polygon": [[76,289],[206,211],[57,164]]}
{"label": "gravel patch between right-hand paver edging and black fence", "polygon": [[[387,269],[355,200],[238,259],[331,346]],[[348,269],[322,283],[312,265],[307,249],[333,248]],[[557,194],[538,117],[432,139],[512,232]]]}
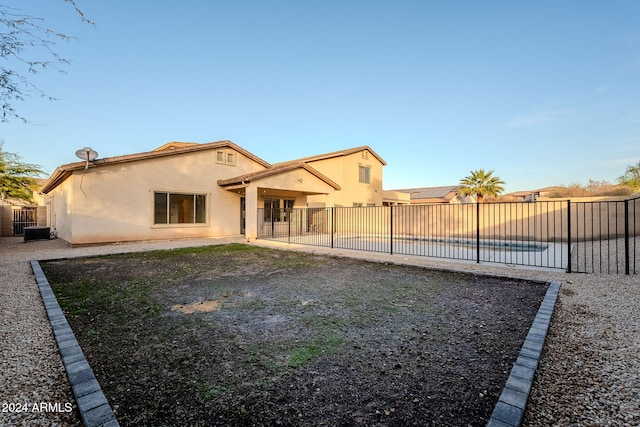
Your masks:
{"label": "gravel patch between right-hand paver edging and black fence", "polygon": [[640,425],[640,280],[568,276],[524,425]]}

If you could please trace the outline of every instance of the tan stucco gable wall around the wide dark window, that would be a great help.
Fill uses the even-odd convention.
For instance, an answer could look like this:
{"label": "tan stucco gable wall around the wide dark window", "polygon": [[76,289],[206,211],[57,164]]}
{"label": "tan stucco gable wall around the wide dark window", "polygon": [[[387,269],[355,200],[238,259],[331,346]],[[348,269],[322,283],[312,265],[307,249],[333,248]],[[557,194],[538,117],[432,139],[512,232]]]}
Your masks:
{"label": "tan stucco gable wall around the wide dark window", "polygon": [[[211,150],[75,171],[49,194],[52,226],[72,244],[239,234],[240,195],[217,181],[262,169],[242,155],[217,164]],[[206,224],[154,225],[154,191],[206,194]]]}

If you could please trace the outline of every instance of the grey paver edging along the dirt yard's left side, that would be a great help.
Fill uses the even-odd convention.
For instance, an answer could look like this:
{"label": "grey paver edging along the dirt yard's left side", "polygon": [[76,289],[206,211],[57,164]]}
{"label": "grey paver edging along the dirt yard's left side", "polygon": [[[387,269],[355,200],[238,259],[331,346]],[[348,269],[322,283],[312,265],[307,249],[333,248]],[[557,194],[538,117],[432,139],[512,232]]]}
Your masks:
{"label": "grey paver edging along the dirt yard's left side", "polygon": [[31,268],[36,276],[36,283],[84,425],[86,427],[119,427],[120,424],[53,294],[40,263],[31,261]]}

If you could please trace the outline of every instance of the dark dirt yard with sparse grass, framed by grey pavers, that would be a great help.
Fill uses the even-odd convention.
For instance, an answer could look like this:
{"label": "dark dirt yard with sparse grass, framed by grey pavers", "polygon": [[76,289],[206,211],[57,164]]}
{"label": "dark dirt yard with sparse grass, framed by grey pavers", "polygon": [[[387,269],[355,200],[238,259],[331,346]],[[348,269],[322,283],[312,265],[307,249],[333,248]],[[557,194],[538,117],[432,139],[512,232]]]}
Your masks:
{"label": "dark dirt yard with sparse grass, framed by grey pavers", "polygon": [[121,425],[486,425],[546,285],[247,245],[42,263]]}

